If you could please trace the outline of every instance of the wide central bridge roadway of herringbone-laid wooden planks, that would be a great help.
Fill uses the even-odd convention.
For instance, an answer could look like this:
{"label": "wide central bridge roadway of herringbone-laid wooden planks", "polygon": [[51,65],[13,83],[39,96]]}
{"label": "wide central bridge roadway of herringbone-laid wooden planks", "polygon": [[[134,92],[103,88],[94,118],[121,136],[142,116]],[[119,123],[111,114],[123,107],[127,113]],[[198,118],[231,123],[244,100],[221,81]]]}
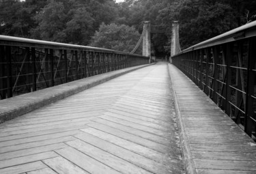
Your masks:
{"label": "wide central bridge roadway of herringbone-laid wooden planks", "polygon": [[167,63],[0,125],[0,173],[183,173]]}

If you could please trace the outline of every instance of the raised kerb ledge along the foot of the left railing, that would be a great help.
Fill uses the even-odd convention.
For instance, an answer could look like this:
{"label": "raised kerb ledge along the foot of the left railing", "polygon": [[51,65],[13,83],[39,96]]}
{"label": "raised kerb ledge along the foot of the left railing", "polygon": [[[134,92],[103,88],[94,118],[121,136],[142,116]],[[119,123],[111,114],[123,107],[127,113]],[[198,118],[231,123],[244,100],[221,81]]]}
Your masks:
{"label": "raised kerb ledge along the foot of the left railing", "polygon": [[83,78],[78,81],[72,81],[70,83],[57,85],[55,87],[49,87],[39,91],[15,96],[13,98],[0,100],[0,124],[4,121],[14,119],[15,117],[29,113],[30,111],[42,106],[46,106],[47,104],[57,102],[58,100],[72,96],[75,93],[79,93],[85,89],[89,89],[118,76],[127,74],[128,72],[151,66],[152,64],[154,63],[107,72],[104,74]]}

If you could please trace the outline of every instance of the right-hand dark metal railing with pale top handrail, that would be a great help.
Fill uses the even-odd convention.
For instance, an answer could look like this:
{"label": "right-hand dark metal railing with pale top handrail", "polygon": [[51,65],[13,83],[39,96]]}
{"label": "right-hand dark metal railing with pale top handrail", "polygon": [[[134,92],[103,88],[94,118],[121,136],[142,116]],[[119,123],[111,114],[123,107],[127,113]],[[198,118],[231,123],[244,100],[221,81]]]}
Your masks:
{"label": "right-hand dark metal railing with pale top handrail", "polygon": [[173,64],[254,139],[255,60],[256,21],[191,46],[172,57]]}

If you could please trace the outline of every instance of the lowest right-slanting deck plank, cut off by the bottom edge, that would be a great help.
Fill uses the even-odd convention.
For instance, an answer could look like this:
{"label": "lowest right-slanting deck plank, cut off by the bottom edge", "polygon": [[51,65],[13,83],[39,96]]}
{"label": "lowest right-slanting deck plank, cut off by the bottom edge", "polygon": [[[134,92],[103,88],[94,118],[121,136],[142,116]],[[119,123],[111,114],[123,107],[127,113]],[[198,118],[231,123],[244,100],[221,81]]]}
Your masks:
{"label": "lowest right-slanting deck plank, cut off by the bottom edge", "polygon": [[79,173],[79,174],[87,174],[86,171],[81,169],[79,166],[76,166],[72,162],[69,162],[65,158],[58,156],[56,158],[50,158],[47,160],[42,160],[44,164],[50,166],[51,169],[56,171],[59,174],[69,174],[69,173]]}

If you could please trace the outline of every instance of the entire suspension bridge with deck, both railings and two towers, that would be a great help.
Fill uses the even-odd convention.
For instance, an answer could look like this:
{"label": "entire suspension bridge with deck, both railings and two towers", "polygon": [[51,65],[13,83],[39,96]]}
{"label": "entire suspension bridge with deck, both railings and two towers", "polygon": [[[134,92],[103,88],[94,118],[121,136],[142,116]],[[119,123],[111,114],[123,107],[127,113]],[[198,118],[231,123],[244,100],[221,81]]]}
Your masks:
{"label": "entire suspension bridge with deck, both railings and two towers", "polygon": [[0,35],[0,173],[256,173],[255,31],[175,21],[171,63],[150,22],[131,53]]}

